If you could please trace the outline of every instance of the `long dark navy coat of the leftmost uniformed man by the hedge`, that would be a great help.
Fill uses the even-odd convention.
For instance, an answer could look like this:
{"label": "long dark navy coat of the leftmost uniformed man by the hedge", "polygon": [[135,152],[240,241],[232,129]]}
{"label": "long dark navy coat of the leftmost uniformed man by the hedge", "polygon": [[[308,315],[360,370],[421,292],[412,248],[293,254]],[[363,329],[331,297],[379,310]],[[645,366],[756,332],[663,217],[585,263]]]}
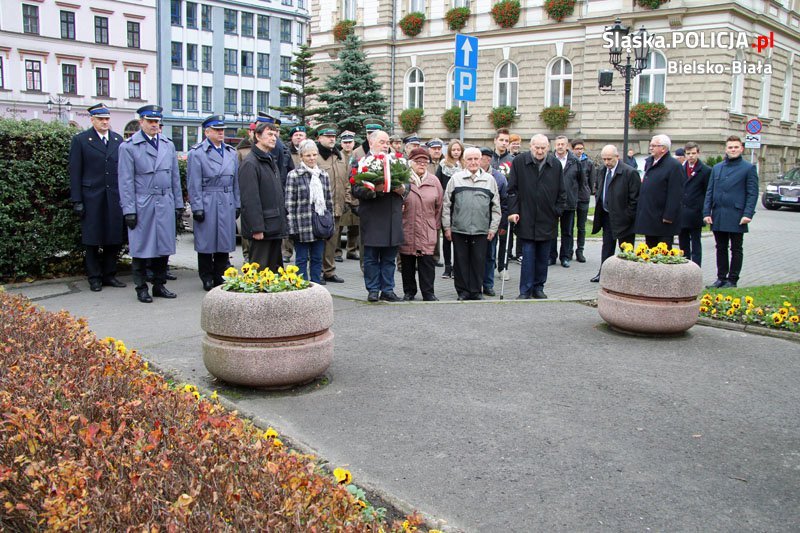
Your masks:
{"label": "long dark navy coat of the leftmost uniformed man by the hedge", "polygon": [[108,144],[103,144],[94,128],[72,138],[69,147],[70,200],[83,203],[83,244],[101,246],[124,241],[125,227],[117,186],[117,155],[121,142],[122,137],[109,130]]}

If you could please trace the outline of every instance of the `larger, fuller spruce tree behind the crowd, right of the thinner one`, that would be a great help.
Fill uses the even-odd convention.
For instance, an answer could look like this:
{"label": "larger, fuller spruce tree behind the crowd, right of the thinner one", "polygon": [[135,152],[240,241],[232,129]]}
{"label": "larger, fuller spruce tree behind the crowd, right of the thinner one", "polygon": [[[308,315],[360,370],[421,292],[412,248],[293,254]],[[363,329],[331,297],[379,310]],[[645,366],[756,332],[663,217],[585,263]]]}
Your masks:
{"label": "larger, fuller spruce tree behind the crowd, right of the thinner one", "polygon": [[365,119],[385,119],[388,104],[356,35],[345,39],[333,68],[337,72],[326,80],[325,92],[319,95],[328,104],[322,120],[359,133]]}

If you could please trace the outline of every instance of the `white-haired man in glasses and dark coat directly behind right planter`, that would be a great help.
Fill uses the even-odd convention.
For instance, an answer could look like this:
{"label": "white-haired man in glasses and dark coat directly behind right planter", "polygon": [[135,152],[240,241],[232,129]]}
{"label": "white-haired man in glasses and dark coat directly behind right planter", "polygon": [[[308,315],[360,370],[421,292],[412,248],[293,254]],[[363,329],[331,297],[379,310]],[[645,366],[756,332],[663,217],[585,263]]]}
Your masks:
{"label": "white-haired man in glasses and dark coat directly behind right planter", "polygon": [[644,165],[644,179],[636,211],[636,233],[644,235],[647,246],[660,242],[672,247],[680,233],[678,217],[683,194],[683,167],[669,153],[666,135],[650,140],[650,157]]}

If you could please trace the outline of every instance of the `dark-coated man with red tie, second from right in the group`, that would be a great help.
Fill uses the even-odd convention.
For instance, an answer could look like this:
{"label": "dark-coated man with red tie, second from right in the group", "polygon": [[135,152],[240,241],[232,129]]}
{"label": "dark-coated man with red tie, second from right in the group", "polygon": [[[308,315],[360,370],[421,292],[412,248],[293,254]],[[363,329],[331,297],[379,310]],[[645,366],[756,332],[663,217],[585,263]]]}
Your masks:
{"label": "dark-coated man with red tie, second from right in the group", "polygon": [[681,200],[681,232],[678,235],[683,254],[697,263],[703,261],[703,246],[700,235],[703,231],[703,202],[706,199],[711,168],[700,161],[700,147],[688,142],[684,147],[686,162],[683,164],[683,199]]}

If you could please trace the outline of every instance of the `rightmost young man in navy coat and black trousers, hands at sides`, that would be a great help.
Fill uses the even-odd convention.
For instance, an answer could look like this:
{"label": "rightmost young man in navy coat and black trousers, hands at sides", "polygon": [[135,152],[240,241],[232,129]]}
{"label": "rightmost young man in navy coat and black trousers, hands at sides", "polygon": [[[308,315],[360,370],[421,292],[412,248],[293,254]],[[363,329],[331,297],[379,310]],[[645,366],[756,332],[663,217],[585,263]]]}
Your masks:
{"label": "rightmost young man in navy coat and black trousers, hands at sides", "polygon": [[743,151],[739,137],[728,137],[725,160],[714,165],[706,191],[703,220],[711,224],[717,242],[717,281],[711,285],[714,288],[736,287],[739,282],[744,262],[742,242],[756,212],[758,173],[742,158]]}

